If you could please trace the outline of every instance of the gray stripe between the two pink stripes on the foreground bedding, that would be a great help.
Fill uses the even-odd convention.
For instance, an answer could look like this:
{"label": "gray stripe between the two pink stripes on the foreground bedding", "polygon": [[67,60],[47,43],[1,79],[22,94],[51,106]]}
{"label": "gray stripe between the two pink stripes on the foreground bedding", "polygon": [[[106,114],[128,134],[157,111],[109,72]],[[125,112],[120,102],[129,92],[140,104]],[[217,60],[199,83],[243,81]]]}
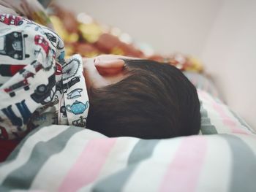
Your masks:
{"label": "gray stripe between the two pink stripes on the foreground bedding", "polygon": [[112,174],[105,180],[100,181],[92,191],[109,191],[109,192],[119,192],[124,188],[125,183],[129,180],[132,172],[135,171],[138,164],[146,158],[150,158],[155,146],[159,142],[159,139],[144,140],[140,139],[135,145],[132,152],[129,155],[127,162],[127,167],[116,174]]}

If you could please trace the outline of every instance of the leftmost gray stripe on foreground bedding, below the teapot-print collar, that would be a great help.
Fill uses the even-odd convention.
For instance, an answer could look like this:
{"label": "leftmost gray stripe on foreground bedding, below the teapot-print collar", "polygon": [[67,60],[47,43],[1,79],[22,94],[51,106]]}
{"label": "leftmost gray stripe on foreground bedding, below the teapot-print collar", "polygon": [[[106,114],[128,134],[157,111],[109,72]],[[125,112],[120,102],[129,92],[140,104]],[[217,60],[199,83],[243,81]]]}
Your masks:
{"label": "leftmost gray stripe on foreground bedding, below the teapot-print collar", "polygon": [[[68,140],[83,128],[69,127],[61,134],[47,142],[38,142],[34,146],[29,160],[11,172],[2,183],[2,186],[10,189],[29,189],[34,177],[51,155],[61,152]],[[54,171],[54,170],[53,170]],[[47,177],[47,175],[45,175]]]}

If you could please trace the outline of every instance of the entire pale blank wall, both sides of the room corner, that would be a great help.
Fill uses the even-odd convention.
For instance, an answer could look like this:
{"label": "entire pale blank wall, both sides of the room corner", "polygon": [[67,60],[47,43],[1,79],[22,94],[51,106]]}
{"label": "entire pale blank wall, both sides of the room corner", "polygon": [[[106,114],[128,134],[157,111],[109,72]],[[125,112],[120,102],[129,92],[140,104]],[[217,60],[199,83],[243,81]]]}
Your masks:
{"label": "entire pale blank wall, both sides of the room corner", "polygon": [[[56,0],[122,33],[146,54],[192,55],[222,99],[256,130],[255,0]],[[90,17],[87,17],[90,20]]]}

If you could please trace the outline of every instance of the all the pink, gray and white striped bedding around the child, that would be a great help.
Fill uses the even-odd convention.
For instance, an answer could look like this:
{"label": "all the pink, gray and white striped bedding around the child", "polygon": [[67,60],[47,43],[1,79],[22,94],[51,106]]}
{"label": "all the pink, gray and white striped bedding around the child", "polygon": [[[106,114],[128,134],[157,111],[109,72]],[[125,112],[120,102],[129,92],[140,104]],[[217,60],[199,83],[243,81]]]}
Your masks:
{"label": "all the pink, gray and white striped bedding around the child", "polygon": [[256,191],[256,135],[200,89],[199,135],[108,138],[74,126],[32,131],[0,164],[0,191]]}

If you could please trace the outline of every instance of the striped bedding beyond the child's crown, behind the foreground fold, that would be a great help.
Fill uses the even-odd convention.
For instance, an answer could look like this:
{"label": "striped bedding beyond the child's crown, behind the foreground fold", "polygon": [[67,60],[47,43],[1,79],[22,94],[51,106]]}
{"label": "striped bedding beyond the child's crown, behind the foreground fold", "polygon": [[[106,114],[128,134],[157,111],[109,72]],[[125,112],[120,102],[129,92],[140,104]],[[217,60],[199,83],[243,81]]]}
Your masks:
{"label": "striped bedding beyond the child's crown, behind the foreground fold", "polygon": [[201,134],[255,133],[236,112],[223,103],[214,82],[203,74],[184,72],[195,85],[200,99]]}

